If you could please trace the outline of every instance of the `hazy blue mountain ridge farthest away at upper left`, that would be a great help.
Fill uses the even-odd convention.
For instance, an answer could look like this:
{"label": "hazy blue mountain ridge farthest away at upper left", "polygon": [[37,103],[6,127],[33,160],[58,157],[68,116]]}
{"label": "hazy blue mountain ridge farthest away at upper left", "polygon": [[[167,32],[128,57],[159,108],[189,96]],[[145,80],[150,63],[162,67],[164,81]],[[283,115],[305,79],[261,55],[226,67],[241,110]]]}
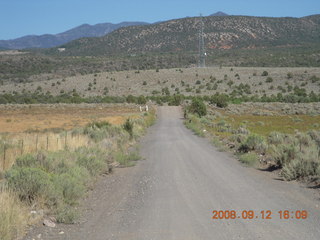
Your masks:
{"label": "hazy blue mountain ridge farthest away at upper left", "polygon": [[118,28],[146,25],[145,22],[122,22],[118,24],[83,24],[59,34],[28,35],[13,40],[0,40],[0,49],[50,48],[83,37],[101,37]]}

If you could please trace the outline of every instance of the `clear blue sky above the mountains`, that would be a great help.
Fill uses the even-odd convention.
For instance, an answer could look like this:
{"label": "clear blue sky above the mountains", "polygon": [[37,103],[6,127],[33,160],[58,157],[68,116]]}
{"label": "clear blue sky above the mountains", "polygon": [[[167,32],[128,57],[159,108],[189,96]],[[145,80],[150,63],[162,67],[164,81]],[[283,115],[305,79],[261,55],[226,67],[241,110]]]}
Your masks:
{"label": "clear blue sky above the mountains", "polygon": [[200,13],[302,17],[320,0],[0,0],[0,39],[55,34],[83,23],[156,22]]}

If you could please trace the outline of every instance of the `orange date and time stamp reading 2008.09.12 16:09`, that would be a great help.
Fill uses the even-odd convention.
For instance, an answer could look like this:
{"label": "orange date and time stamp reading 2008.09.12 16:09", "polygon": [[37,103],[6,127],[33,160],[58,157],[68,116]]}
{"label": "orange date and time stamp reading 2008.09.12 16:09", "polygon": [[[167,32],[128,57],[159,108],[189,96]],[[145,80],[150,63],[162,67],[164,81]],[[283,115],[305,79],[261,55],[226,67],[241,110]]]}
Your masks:
{"label": "orange date and time stamp reading 2008.09.12 16:09", "polygon": [[212,211],[212,219],[307,219],[308,211],[307,210],[280,210],[280,211],[271,211],[271,210],[214,210]]}

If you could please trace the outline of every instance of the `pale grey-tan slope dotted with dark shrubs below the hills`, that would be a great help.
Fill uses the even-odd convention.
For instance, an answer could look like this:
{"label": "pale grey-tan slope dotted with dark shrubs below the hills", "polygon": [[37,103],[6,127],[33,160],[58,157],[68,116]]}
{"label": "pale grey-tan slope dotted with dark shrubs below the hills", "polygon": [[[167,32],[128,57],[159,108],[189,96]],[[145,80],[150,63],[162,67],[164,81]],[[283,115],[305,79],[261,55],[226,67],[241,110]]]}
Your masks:
{"label": "pale grey-tan slope dotted with dark shrubs below the hills", "polygon": [[319,68],[208,67],[160,70],[101,72],[1,86],[1,93],[40,92],[59,95],[77,92],[80,96],[128,95],[212,95],[216,92],[235,96],[320,91]]}

